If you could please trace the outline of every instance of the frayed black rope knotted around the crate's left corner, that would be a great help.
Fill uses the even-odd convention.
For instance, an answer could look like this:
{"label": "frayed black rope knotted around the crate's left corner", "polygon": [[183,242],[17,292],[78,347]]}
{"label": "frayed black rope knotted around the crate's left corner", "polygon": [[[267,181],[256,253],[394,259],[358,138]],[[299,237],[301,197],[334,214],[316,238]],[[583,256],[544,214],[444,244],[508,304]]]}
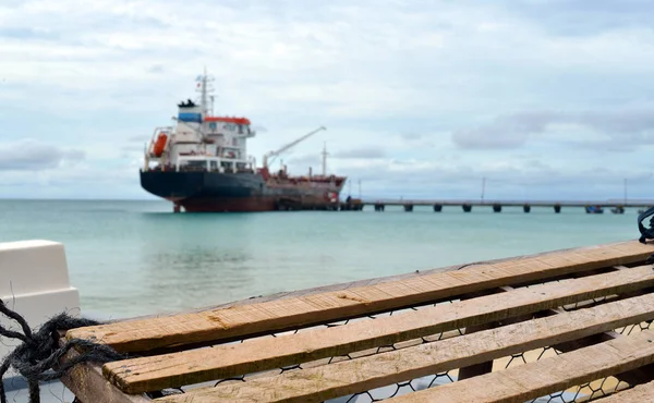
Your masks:
{"label": "frayed black rope knotted around the crate's left corner", "polygon": [[[59,379],[69,369],[81,363],[93,362],[105,364],[126,358],[126,356],[119,354],[108,345],[97,344],[87,340],[73,339],[69,340],[63,346],[59,346],[59,330],[65,331],[74,328],[100,325],[95,320],[59,314],[46,321],[38,331],[33,332],[25,318],[8,308],[2,300],[0,300],[0,314],[17,322],[23,330],[21,333],[0,326],[1,337],[22,342],[0,364],[0,403],[7,403],[7,393],[1,380],[11,367],[27,380],[27,384],[29,386],[29,402],[39,403],[39,381]],[[60,365],[59,361],[61,357],[73,347],[78,347],[80,355],[72,359],[66,359],[63,365]]]}

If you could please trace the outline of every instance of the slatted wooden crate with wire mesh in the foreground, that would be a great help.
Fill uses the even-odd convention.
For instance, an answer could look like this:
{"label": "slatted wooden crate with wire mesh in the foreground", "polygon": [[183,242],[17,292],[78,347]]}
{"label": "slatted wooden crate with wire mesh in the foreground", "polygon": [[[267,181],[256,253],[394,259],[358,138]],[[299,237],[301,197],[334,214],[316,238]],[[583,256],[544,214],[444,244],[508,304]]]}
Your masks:
{"label": "slatted wooden crate with wire mesh in the foreground", "polygon": [[133,358],[62,381],[82,402],[654,401],[653,253],[630,241],[73,329]]}

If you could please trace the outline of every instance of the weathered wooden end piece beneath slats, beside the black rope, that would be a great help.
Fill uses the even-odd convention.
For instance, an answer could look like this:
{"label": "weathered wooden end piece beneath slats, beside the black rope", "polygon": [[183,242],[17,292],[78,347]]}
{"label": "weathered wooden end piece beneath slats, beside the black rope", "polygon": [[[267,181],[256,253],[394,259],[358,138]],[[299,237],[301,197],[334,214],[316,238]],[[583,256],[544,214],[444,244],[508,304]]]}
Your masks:
{"label": "weathered wooden end piece beneath slats, beside the black rope", "polygon": [[[78,353],[73,349],[63,361]],[[102,377],[100,367],[92,363],[77,364],[61,377],[61,382],[82,403],[147,403],[153,400],[145,394],[125,394]]]}

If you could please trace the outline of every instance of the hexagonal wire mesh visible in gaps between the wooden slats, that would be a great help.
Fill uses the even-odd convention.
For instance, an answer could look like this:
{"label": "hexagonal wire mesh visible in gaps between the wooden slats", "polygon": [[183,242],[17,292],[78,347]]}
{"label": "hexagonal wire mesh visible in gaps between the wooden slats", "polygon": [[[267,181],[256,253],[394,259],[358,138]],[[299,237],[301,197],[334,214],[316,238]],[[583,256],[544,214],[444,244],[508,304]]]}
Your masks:
{"label": "hexagonal wire mesh visible in gaps between the wooden slats", "polygon": [[[525,285],[525,288],[540,286],[540,285],[544,285],[544,284],[546,284],[546,283]],[[588,308],[591,306],[610,302],[610,301],[616,300],[617,297],[618,297],[617,295],[600,297],[600,298],[589,300],[589,301],[584,301],[584,302],[580,302],[580,303],[576,303],[576,304],[566,305],[560,308],[564,309],[565,312],[571,312],[571,310],[576,310],[576,309],[580,309],[580,308]],[[295,330],[286,331],[286,332],[281,332],[281,333],[270,333],[267,335],[240,340],[240,341],[232,342],[232,343],[247,343],[247,342],[251,342],[252,340],[257,340],[261,338],[277,338],[282,334],[295,334],[298,332],[307,331],[307,330],[346,326],[348,323],[351,323],[354,321],[360,321],[360,320],[375,320],[376,318],[379,318],[379,317],[392,316],[392,315],[397,315],[397,314],[400,314],[400,313],[407,312],[407,310],[419,310],[419,309],[428,308],[428,307],[433,307],[433,306],[440,305],[440,304],[451,304],[451,303],[455,303],[458,301],[460,301],[460,300],[450,300],[450,301],[440,302],[437,304],[428,304],[428,305],[423,305],[423,306],[410,307],[410,308],[405,308],[405,309],[387,312],[384,314],[368,315],[365,317],[347,319],[347,320],[341,320],[341,321],[336,321],[336,322],[331,322],[331,323],[327,323],[327,325],[314,326],[314,327],[308,327],[308,328],[295,329]],[[644,321],[641,323],[634,323],[634,325],[630,325],[630,326],[627,326],[623,328],[615,329],[615,332],[617,332],[621,335],[625,335],[625,337],[629,337],[630,334],[633,334],[635,332],[640,332],[642,330],[650,329],[651,326],[652,326],[652,321],[650,320],[650,321]],[[181,387],[181,388],[169,389],[169,390],[164,391],[164,393],[165,394],[184,393],[186,391],[190,391],[190,390],[193,390],[196,388],[203,388],[203,387],[206,388],[206,387],[211,387],[211,386],[218,387],[218,386],[225,386],[225,384],[230,384],[230,383],[243,383],[243,382],[247,382],[247,380],[251,380],[251,379],[277,376],[280,374],[284,374],[287,371],[303,370],[303,369],[316,367],[319,365],[329,365],[329,364],[339,363],[342,361],[356,359],[356,358],[361,358],[361,357],[368,356],[368,355],[385,353],[388,351],[396,351],[396,350],[407,349],[407,347],[411,347],[411,346],[415,346],[415,345],[420,345],[420,344],[433,343],[433,342],[449,339],[449,338],[456,338],[456,337],[460,337],[460,335],[464,334],[464,330],[465,329],[456,329],[456,330],[450,330],[450,331],[446,331],[446,332],[441,332],[441,333],[437,333],[437,334],[433,334],[433,335],[428,335],[428,337],[423,337],[423,338],[415,339],[415,340],[399,342],[399,343],[396,343],[392,345],[377,346],[377,347],[366,350],[366,351],[354,352],[354,353],[350,353],[344,356],[334,356],[334,357],[318,359],[315,362],[302,363],[302,364],[296,364],[296,365],[277,368],[277,369],[272,369],[272,370],[266,370],[263,373],[247,374],[247,375],[242,375],[239,377],[220,379],[217,381],[203,382],[203,383],[197,383],[197,384],[193,384],[193,386],[185,386],[185,387]],[[516,366],[524,365],[526,363],[532,363],[532,362],[536,362],[540,359],[553,357],[558,354],[562,354],[562,352],[560,352],[552,346],[545,346],[545,347],[536,349],[536,350],[529,351],[529,352],[513,354],[513,355],[510,355],[507,357],[501,357],[501,358],[495,359],[493,362],[493,371],[512,368]],[[425,376],[425,377],[421,377],[421,378],[416,378],[416,379],[411,379],[411,380],[398,382],[396,384],[390,384],[390,386],[386,386],[383,388],[364,391],[361,393],[340,396],[338,399],[331,399],[331,400],[326,401],[325,403],[380,402],[380,401],[385,401],[387,399],[402,395],[405,393],[411,393],[411,392],[415,392],[415,391],[420,391],[420,390],[424,390],[424,389],[428,389],[428,388],[434,388],[434,387],[437,387],[440,384],[455,382],[458,379],[458,375],[459,375],[459,369],[451,369],[451,370],[448,370],[445,373],[434,374],[434,375],[429,375],[429,376]],[[630,388],[630,386],[627,382],[620,381],[616,377],[611,376],[611,377],[607,377],[607,378],[597,379],[597,380],[594,380],[592,382],[588,382],[584,384],[568,388],[567,390],[558,391],[556,393],[552,393],[546,396],[541,396],[541,398],[531,400],[529,402],[530,403],[590,402],[590,401],[597,400],[600,398],[609,395],[611,393],[615,393],[617,391],[628,389],[628,388]]]}

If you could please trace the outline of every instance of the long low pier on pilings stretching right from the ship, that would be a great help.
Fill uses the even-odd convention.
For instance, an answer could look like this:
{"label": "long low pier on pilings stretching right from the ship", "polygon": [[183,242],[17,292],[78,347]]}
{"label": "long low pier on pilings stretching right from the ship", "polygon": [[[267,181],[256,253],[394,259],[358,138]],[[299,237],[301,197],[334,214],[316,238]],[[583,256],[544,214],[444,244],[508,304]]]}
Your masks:
{"label": "long low pier on pilings stretching right from the ship", "polygon": [[473,208],[491,209],[501,212],[505,207],[518,207],[524,212],[531,212],[532,207],[547,207],[555,213],[561,212],[564,208],[583,208],[588,213],[603,213],[607,209],[613,213],[623,213],[627,208],[646,209],[654,206],[654,200],[472,200],[472,199],[352,199],[341,203],[340,210],[363,210],[365,206],[372,206],[375,211],[384,211],[386,207],[402,207],[404,211],[411,212],[414,207],[428,207],[434,212],[440,212],[447,208],[460,208],[463,212],[471,212]]}

